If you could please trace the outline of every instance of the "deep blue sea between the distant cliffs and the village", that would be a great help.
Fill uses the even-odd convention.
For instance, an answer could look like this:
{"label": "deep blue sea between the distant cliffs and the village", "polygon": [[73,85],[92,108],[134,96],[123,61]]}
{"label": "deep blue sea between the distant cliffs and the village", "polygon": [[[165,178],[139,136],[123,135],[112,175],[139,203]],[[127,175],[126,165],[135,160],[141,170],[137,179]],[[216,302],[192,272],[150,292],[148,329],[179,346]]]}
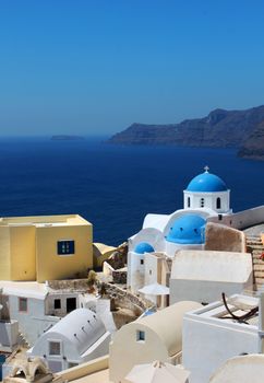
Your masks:
{"label": "deep blue sea between the distant cliffs and the village", "polygon": [[264,204],[264,162],[232,149],[2,138],[0,216],[79,213],[94,224],[95,242],[118,245],[146,213],[182,208],[182,190],[205,165],[231,189],[235,211]]}

